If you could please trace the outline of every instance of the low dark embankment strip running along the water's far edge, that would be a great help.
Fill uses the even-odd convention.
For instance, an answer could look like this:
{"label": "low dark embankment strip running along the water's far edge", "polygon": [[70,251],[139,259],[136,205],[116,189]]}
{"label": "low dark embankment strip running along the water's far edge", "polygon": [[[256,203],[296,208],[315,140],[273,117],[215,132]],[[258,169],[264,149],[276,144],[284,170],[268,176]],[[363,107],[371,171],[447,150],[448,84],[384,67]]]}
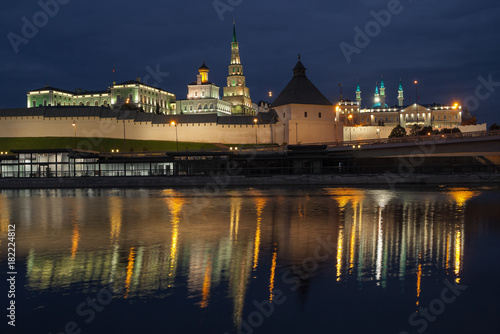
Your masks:
{"label": "low dark embankment strip running along the water's far edge", "polygon": [[245,176],[168,176],[168,177],[79,177],[79,178],[23,178],[0,179],[0,189],[56,189],[56,188],[200,188],[203,194],[213,194],[224,187],[247,186],[350,186],[377,185],[476,185],[500,184],[500,175],[483,173],[473,175],[412,174],[397,175],[280,175],[268,177]]}

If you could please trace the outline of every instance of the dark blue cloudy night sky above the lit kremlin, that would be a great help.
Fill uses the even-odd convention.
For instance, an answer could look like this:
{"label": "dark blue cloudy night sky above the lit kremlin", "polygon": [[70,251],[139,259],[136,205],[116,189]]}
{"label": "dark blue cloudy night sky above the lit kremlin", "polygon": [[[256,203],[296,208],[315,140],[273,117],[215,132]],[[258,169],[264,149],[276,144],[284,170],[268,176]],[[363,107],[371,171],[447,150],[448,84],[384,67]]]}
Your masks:
{"label": "dark blue cloudy night sky above the lit kremlin", "polygon": [[[116,82],[149,74],[148,83],[185,99],[205,61],[209,80],[223,87],[234,18],[254,102],[279,94],[300,53],[330,101],[340,83],[354,100],[359,80],[367,106],[383,75],[389,105],[400,78],[405,104],[414,102],[418,80],[421,103],[467,103],[480,123],[500,123],[498,1],[55,1],[2,2],[0,108],[25,107],[26,92],[47,84],[104,90],[113,66]],[[51,15],[40,3],[52,4]],[[38,31],[23,32],[32,23]],[[356,43],[356,27],[370,40]]]}

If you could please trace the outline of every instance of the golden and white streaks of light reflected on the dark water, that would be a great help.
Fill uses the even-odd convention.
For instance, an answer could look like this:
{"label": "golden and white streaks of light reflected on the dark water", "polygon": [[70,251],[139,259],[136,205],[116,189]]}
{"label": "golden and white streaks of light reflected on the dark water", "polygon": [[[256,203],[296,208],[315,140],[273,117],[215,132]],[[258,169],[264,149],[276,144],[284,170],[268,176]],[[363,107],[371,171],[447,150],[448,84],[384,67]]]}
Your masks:
{"label": "golden and white streaks of light reflected on the dark water", "polygon": [[280,268],[314,257],[318,240],[327,237],[335,251],[318,274],[331,273],[332,284],[382,288],[391,278],[414,279],[418,306],[422,279],[433,271],[460,282],[467,202],[480,194],[467,188],[248,190],[227,191],[207,204],[188,190],[5,192],[0,228],[18,225],[18,256],[26,257],[33,292],[111,283],[121,291],[115,298],[130,299],[185,288],[186,297],[208,308],[218,289],[230,296],[238,325],[252,281],[265,279],[273,302]]}

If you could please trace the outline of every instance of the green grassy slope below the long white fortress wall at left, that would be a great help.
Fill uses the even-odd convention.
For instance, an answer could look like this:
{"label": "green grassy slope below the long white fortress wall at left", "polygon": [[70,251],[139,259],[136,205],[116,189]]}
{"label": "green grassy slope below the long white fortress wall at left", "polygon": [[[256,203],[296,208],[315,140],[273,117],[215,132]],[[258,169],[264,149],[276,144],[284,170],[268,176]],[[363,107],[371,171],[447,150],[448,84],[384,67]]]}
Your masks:
{"label": "green grassy slope below the long white fortress wall at left", "polygon": [[[110,138],[75,138],[74,137],[40,137],[40,138],[1,138],[0,152],[9,152],[10,150],[28,150],[28,149],[60,149],[75,148],[88,151],[111,152],[111,150],[120,150],[123,152],[123,139]],[[204,143],[185,143],[179,142],[179,150],[199,150],[215,149],[214,144]],[[153,152],[153,151],[175,151],[176,143],[156,140],[126,140],[125,152]]]}

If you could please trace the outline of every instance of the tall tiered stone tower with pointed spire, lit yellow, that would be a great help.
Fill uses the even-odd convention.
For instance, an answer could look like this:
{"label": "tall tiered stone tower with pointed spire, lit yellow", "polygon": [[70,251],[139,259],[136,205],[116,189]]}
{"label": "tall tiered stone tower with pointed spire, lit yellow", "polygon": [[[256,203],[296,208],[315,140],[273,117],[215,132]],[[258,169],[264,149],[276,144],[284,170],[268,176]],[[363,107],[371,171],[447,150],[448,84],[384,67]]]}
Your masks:
{"label": "tall tiered stone tower with pointed spire, lit yellow", "polygon": [[236,39],[236,25],[233,22],[233,41],[231,43],[231,63],[229,64],[229,76],[227,86],[223,88],[222,100],[231,102],[231,114],[233,115],[253,115],[252,100],[250,90],[246,86],[243,75],[243,65],[240,60],[240,49]]}

